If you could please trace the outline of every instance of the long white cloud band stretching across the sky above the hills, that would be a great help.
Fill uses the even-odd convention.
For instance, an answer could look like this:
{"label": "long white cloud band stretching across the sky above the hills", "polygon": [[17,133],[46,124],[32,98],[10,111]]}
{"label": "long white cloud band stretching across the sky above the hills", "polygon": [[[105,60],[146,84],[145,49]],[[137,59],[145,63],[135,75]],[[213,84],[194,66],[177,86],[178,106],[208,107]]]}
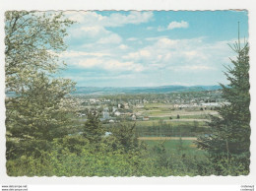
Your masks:
{"label": "long white cloud band stretching across the sky above the hills", "polygon": [[[110,42],[113,44],[114,40],[117,44],[113,46]],[[222,68],[223,64],[228,63],[226,55],[231,56],[226,45],[230,41],[207,43],[204,37],[171,39],[160,36],[149,42],[151,45],[140,49],[132,46],[128,48],[125,44],[119,44],[118,37],[115,39],[114,35],[110,35],[108,38],[99,38],[97,43],[87,47],[88,51],[66,51],[61,57],[68,58],[71,63],[83,68],[107,71],[202,72]],[[107,45],[111,48],[106,48]]]}

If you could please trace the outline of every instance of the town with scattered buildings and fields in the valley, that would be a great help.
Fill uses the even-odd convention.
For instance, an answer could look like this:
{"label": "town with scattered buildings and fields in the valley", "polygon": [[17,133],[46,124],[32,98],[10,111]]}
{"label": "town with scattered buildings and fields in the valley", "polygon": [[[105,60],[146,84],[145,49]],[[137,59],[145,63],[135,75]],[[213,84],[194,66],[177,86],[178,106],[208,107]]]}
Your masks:
{"label": "town with scattered buildings and fields in the valley", "polygon": [[73,95],[69,98],[76,105],[78,118],[86,118],[86,112],[96,108],[101,113],[100,121],[105,123],[189,116],[194,116],[196,120],[202,119],[202,115],[216,114],[217,107],[228,104],[222,98],[222,90],[161,95]]}

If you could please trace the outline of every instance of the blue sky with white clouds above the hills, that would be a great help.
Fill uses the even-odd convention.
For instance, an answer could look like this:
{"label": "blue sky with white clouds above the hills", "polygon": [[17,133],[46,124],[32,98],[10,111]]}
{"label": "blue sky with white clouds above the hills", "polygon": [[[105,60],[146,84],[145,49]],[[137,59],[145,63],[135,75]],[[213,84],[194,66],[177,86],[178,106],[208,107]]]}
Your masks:
{"label": "blue sky with white clouds above the hills", "polygon": [[65,12],[61,73],[79,87],[227,84],[228,46],[248,38],[246,11]]}

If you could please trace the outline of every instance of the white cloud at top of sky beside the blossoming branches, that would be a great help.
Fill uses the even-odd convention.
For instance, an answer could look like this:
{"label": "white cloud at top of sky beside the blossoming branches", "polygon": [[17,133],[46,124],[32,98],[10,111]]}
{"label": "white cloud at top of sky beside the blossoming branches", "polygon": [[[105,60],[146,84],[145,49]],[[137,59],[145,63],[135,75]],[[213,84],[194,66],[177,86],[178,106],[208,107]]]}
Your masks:
{"label": "white cloud at top of sky beside the blossoming branches", "polygon": [[[69,11],[65,16],[72,21],[76,21],[70,30],[70,41],[76,41],[83,47],[89,42],[99,44],[118,44],[122,42],[122,37],[115,32],[111,32],[106,27],[121,27],[127,24],[139,25],[147,23],[153,19],[153,12],[131,11],[127,13],[115,12],[109,16],[102,16],[91,11]],[[127,40],[136,40],[130,38]],[[124,46],[122,46],[124,47]]]}

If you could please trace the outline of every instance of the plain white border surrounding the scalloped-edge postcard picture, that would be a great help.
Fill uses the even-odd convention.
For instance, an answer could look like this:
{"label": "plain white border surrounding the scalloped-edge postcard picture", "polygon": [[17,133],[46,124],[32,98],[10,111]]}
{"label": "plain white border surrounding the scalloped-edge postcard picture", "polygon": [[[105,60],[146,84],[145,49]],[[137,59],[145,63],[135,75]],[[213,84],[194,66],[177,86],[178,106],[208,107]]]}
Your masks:
{"label": "plain white border surrounding the scalloped-edge postcard picture", "polygon": [[[253,0],[0,0],[0,184],[255,184],[256,10]],[[251,83],[251,172],[248,176],[196,177],[9,177],[5,168],[4,12],[7,10],[227,10],[249,12]],[[221,30],[221,29],[220,29]]]}

